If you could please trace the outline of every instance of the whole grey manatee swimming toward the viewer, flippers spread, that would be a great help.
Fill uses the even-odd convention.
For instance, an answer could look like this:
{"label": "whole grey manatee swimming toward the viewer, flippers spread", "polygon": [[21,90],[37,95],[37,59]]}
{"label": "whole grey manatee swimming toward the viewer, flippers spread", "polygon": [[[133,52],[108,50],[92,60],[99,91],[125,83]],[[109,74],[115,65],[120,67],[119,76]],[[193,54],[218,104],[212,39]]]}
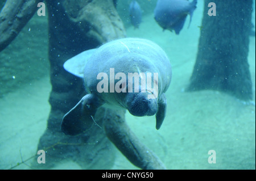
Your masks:
{"label": "whole grey manatee swimming toward the viewer, flippers spread", "polygon": [[67,60],[64,69],[83,78],[88,92],[64,115],[61,131],[65,134],[89,129],[101,106],[126,109],[134,116],[155,115],[156,129],[161,127],[172,70],[159,45],[139,38],[109,41]]}

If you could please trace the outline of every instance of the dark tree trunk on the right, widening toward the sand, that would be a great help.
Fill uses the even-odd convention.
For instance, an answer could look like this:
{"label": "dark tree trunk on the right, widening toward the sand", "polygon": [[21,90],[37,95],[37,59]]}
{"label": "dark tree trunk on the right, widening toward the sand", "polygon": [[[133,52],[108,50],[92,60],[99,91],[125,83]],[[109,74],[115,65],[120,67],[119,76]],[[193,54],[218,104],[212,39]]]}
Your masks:
{"label": "dark tree trunk on the right, widening toward the sand", "polygon": [[[216,16],[207,14],[210,2],[216,4]],[[189,91],[220,90],[238,99],[252,99],[247,62],[252,4],[252,0],[205,0],[205,14]]]}

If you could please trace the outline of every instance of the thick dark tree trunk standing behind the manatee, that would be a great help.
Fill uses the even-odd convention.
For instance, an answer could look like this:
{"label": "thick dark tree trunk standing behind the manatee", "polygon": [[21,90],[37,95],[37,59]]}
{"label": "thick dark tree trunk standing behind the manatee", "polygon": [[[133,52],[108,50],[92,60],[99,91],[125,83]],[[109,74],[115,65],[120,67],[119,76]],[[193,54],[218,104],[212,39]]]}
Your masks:
{"label": "thick dark tree trunk standing behind the manatee", "polygon": [[[111,169],[115,157],[113,144],[103,130],[96,126],[86,133],[72,137],[60,131],[62,117],[85,94],[82,79],[65,71],[63,64],[86,49],[125,37],[122,21],[115,10],[113,0],[76,3],[68,0],[48,0],[46,5],[52,85],[49,97],[51,112],[47,129],[40,137],[38,150],[51,149],[47,150],[48,163],[38,167],[51,169],[60,160],[71,159],[82,169]],[[97,121],[98,117],[94,119]],[[52,145],[55,145],[54,148]]]}

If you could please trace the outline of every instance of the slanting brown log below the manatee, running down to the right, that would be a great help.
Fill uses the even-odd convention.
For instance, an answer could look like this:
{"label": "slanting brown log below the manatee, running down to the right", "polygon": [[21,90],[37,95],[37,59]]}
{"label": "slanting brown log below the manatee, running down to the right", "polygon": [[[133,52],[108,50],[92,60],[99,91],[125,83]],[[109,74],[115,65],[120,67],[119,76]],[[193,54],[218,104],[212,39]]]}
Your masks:
{"label": "slanting brown log below the manatee, running down to the right", "polygon": [[[107,112],[103,122],[106,136],[133,165],[144,170],[166,169],[163,162],[139,141],[126,124],[124,110],[116,112],[108,109]],[[101,115],[104,115],[104,112]]]}

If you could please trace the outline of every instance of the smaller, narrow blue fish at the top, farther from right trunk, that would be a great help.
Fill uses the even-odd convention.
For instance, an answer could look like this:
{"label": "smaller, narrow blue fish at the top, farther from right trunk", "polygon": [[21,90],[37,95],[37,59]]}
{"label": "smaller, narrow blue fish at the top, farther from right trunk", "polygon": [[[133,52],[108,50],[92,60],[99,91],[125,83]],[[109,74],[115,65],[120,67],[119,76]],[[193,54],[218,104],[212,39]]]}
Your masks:
{"label": "smaller, narrow blue fish at the top, farther from right trunk", "polygon": [[142,13],[141,13],[141,6],[139,6],[139,3],[137,1],[133,0],[130,3],[129,12],[130,12],[131,24],[133,24],[135,28],[139,28],[139,24],[141,23]]}

